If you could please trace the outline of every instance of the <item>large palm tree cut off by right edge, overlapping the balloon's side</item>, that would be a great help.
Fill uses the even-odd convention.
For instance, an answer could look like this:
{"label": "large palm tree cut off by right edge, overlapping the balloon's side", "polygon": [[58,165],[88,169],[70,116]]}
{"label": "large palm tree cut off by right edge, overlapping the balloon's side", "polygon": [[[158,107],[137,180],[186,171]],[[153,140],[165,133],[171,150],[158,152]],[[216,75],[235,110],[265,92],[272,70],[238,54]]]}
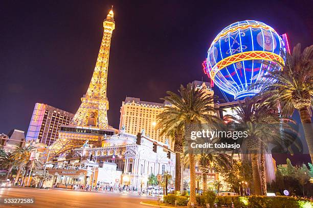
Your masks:
{"label": "large palm tree cut off by right edge, overlapping the balloon's side", "polygon": [[273,103],[281,102],[282,113],[291,116],[298,110],[303,124],[304,134],[311,161],[313,162],[313,129],[311,126],[311,108],[313,95],[313,45],[301,53],[298,43],[292,54],[285,54],[282,70],[269,71],[266,77],[276,80],[267,83],[262,94]]}

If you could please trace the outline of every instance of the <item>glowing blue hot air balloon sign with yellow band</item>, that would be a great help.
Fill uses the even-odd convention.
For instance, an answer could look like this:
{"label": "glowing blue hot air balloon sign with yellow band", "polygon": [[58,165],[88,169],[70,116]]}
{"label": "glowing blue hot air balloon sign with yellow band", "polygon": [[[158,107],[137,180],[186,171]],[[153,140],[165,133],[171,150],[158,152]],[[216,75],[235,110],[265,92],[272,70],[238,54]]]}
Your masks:
{"label": "glowing blue hot air balloon sign with yellow band", "polygon": [[286,40],[285,34],[280,37],[263,22],[235,22],[213,40],[204,62],[205,73],[235,99],[253,96],[264,83],[274,82],[263,75],[274,70],[273,65],[279,67],[276,63],[284,64],[282,50],[287,48]]}

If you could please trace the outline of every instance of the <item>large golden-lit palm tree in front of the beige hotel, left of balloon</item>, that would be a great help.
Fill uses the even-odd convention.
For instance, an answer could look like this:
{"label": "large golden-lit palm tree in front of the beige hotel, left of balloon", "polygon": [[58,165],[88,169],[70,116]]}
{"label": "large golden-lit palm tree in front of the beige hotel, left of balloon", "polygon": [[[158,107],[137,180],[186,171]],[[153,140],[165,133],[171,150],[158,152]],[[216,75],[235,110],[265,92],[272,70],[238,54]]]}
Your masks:
{"label": "large golden-lit palm tree in front of the beige hotel, left of balloon", "polygon": [[[190,164],[190,201],[191,204],[196,204],[195,195],[195,158],[193,149],[191,148],[191,132],[195,130],[196,124],[200,123],[219,123],[218,117],[213,116],[214,108],[213,96],[205,94],[202,88],[196,88],[190,83],[185,88],[181,85],[179,94],[167,91],[168,96],[163,98],[165,101],[171,103],[171,106],[165,106],[164,111],[157,116],[159,120],[162,118],[166,123],[164,128],[168,131],[177,126],[184,127],[185,141],[188,143],[189,164]],[[212,114],[210,114],[212,113]],[[159,121],[158,121],[159,122]]]}

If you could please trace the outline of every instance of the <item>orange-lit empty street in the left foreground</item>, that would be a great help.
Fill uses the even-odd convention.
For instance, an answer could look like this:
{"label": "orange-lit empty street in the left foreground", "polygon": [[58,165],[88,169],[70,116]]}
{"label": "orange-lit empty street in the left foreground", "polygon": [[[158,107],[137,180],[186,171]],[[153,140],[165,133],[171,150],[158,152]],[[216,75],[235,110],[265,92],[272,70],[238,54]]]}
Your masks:
{"label": "orange-lit empty street in the left foreground", "polygon": [[[4,205],[4,198],[34,198],[33,204]],[[154,197],[126,193],[82,192],[72,190],[41,190],[33,188],[0,188],[0,207],[149,207],[140,204]]]}

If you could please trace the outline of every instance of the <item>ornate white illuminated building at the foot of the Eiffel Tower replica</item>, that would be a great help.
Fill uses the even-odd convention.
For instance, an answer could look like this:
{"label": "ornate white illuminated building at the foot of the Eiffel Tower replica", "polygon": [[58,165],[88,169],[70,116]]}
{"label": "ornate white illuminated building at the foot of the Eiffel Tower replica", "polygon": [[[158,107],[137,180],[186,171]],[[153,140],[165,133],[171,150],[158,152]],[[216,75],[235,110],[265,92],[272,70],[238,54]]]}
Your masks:
{"label": "ornate white illuminated building at the foot of the Eiffel Tower replica", "polygon": [[[151,174],[163,174],[167,171],[175,176],[175,153],[168,148],[168,145],[150,139],[144,134],[141,140],[137,141],[136,135],[125,133],[125,129],[116,135],[107,136],[101,146],[92,147],[85,144],[74,149],[73,155],[74,158],[84,159],[72,160],[68,163],[62,161],[65,155],[60,155],[59,162],[47,169],[51,175],[54,175],[53,184],[57,183],[60,188],[73,183],[112,186],[115,189],[130,185],[136,189],[145,189]],[[90,161],[91,155],[93,155],[92,161]],[[95,162],[97,167],[94,167]],[[76,167],[83,167],[84,170]]]}

